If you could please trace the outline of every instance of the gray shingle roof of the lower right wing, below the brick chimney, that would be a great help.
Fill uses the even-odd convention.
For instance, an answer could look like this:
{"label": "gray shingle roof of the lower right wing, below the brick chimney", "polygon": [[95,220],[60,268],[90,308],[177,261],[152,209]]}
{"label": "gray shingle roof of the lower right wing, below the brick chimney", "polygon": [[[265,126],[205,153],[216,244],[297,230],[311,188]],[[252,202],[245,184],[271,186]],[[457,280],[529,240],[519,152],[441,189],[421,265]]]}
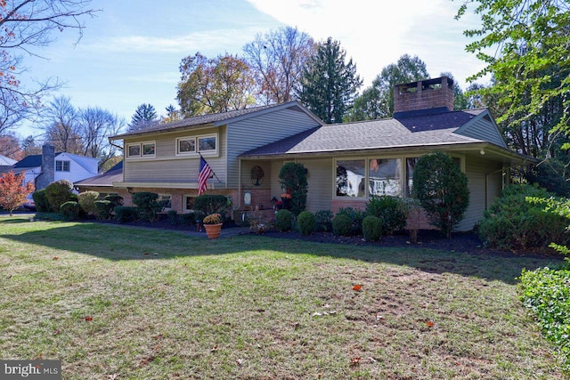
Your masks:
{"label": "gray shingle roof of the lower right wing, below the brick chimney", "polygon": [[298,133],[264,147],[249,150],[241,156],[271,156],[482,142],[453,132],[484,111],[485,109],[470,109],[444,112],[437,115],[322,125],[305,133]]}

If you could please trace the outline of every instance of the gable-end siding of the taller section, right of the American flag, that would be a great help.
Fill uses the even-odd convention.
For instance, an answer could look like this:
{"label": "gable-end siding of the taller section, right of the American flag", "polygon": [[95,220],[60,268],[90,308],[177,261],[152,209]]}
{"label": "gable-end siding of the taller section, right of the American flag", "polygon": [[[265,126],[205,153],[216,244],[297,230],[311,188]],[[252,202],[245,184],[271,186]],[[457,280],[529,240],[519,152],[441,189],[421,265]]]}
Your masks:
{"label": "gable-end siding of the taller section, right of the American flag", "polygon": [[[238,156],[248,150],[304,132],[318,124],[304,112],[281,109],[228,126],[228,186],[238,187]],[[279,172],[277,172],[279,174]]]}

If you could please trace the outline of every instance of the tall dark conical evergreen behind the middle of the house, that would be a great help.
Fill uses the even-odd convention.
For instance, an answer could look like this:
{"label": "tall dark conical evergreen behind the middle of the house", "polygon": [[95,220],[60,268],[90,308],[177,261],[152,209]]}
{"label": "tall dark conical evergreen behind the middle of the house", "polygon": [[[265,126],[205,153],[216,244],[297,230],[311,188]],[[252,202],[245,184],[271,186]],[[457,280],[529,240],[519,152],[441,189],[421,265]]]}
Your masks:
{"label": "tall dark conical evergreen behind the middle of the house", "polygon": [[297,98],[325,123],[341,123],[361,85],[353,60],[329,37],[307,62]]}

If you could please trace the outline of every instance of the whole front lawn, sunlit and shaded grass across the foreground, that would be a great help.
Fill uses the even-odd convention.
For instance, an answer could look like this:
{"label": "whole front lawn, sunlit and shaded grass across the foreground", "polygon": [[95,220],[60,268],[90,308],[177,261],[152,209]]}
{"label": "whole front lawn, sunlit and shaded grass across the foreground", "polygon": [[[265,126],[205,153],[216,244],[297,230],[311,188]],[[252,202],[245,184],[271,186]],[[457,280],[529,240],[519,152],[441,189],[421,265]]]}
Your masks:
{"label": "whole front lawn, sunlit and shaded grass across the foreground", "polygon": [[518,300],[548,263],[1,217],[0,359],[64,379],[563,378]]}

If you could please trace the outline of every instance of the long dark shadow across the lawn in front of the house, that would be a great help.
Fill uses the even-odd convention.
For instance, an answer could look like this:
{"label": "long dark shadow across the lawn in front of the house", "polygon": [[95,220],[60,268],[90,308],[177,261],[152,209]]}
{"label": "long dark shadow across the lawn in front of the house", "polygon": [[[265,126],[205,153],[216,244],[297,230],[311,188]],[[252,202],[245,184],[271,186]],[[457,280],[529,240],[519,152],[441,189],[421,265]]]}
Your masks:
{"label": "long dark shadow across the lawn in front of the house", "polygon": [[[2,224],[12,222],[16,221],[0,220],[0,230]],[[564,263],[561,257],[517,256],[488,252],[465,253],[418,247],[322,244],[253,235],[208,240],[192,238],[176,231],[122,228],[100,223],[66,226],[61,222],[53,222],[48,229],[34,230],[20,235],[0,232],[0,238],[94,255],[113,261],[215,256],[266,249],[293,255],[390,263],[429,273],[449,272],[467,277],[500,280],[509,284],[517,282],[517,277],[523,269],[532,271],[543,266]]]}

